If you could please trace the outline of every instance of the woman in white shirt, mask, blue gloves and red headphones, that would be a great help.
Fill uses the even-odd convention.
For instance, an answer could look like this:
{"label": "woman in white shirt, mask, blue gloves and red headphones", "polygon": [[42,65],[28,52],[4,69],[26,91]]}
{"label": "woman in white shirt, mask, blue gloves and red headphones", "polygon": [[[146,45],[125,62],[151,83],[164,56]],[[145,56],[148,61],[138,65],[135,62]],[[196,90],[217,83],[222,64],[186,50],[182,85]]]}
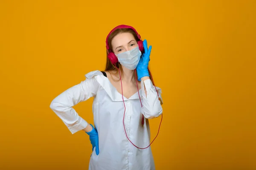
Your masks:
{"label": "woman in white shirt, mask, blue gloves and red headphones", "polygon": [[[89,170],[155,170],[148,119],[163,109],[161,89],[148,70],[151,46],[131,26],[120,25],[106,39],[105,71],[91,71],[50,108],[70,132],[84,130],[93,146]],[[93,99],[94,126],[72,108]]]}

